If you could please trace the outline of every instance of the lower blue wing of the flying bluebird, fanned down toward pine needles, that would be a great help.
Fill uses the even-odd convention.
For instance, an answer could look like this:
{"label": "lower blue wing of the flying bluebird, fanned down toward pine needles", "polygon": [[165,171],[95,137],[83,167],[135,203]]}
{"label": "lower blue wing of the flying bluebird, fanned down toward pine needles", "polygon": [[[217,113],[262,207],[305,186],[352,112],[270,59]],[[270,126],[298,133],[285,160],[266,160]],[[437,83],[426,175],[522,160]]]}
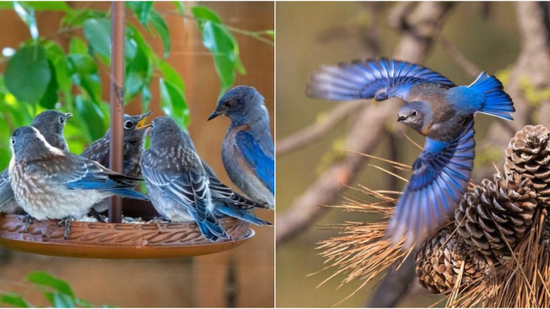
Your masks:
{"label": "lower blue wing of the flying bluebird, fanned down toward pine needles", "polygon": [[394,242],[406,233],[405,248],[420,244],[448,219],[470,181],[474,147],[473,120],[450,142],[426,139],[386,232]]}

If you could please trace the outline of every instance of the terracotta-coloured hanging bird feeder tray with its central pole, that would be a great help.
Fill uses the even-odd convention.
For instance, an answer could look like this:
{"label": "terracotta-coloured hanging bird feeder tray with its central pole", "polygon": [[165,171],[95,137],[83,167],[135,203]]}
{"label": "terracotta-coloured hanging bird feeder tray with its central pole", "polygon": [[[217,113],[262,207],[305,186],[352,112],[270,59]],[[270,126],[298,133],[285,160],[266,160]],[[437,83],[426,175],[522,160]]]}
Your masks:
{"label": "terracotta-coloured hanging bird feeder tray with its central pole", "polygon": [[[111,170],[123,171],[124,140],[124,2],[111,3]],[[109,205],[109,222],[70,222],[65,228],[57,220],[34,221],[25,229],[24,216],[0,214],[0,244],[10,249],[72,258],[154,259],[206,255],[233,249],[254,236],[248,222],[222,218],[221,226],[230,240],[210,242],[195,222],[122,222],[122,210],[132,218],[150,220],[157,215],[150,202],[115,196]]]}

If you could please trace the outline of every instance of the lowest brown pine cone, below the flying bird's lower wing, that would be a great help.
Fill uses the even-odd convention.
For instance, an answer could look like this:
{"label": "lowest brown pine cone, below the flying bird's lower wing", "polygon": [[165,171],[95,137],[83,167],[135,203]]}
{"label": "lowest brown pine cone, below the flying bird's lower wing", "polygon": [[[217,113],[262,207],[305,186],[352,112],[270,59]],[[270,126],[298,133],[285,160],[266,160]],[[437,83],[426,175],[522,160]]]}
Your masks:
{"label": "lowest brown pine cone, below the flying bird's lower wing", "polygon": [[457,233],[443,228],[420,246],[415,258],[415,268],[421,286],[432,293],[448,293],[464,263],[463,284],[481,278],[490,272],[488,257],[469,247]]}

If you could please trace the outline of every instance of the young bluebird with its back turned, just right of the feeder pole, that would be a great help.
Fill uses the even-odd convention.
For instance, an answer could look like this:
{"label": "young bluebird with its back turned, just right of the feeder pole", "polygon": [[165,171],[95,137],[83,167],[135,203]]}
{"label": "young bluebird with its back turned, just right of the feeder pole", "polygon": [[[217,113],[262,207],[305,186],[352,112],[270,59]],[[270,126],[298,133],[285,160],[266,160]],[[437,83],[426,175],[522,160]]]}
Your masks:
{"label": "young bluebird with its back turned, just right of the feeder pole", "polygon": [[170,221],[197,222],[212,242],[228,239],[214,216],[208,175],[190,137],[169,117],[153,120],[151,127],[142,173],[155,209]]}

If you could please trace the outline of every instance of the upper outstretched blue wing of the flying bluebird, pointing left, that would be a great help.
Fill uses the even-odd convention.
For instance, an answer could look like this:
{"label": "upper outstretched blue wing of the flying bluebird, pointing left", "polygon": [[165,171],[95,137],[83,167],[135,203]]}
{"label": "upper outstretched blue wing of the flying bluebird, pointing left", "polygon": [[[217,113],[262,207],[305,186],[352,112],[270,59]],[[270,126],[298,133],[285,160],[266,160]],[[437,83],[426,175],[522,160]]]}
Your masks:
{"label": "upper outstretched blue wing of the flying bluebird, pointing left", "polygon": [[410,62],[386,59],[355,60],[338,66],[324,66],[311,74],[307,96],[324,100],[406,100],[412,84],[437,83],[451,88],[454,83],[426,67]]}

